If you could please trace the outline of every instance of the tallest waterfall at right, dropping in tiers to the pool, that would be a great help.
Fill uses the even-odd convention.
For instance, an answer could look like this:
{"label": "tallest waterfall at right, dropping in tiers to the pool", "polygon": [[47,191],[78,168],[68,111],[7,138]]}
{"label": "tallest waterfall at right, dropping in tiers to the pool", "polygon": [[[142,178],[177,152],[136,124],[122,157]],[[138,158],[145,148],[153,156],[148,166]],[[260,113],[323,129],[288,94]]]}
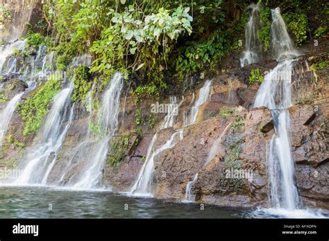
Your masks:
{"label": "tallest waterfall at right, dropping in tiers to the pool", "polygon": [[294,60],[290,58],[296,55],[292,55],[295,53],[294,46],[279,9],[276,8],[271,12],[273,56],[282,62],[279,62],[270,73],[265,75],[256,95],[254,107],[268,107],[275,123],[275,134],[267,148],[271,206],[293,211],[298,205],[298,193],[294,185],[294,159],[292,158],[290,119],[287,108],[292,106]]}

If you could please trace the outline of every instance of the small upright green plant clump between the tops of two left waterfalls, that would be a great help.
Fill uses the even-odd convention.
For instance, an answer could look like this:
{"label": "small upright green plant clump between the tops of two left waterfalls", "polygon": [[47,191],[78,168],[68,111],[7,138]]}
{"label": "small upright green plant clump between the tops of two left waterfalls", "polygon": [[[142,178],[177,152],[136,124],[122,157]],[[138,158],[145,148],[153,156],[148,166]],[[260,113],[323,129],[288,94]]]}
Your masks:
{"label": "small upright green plant clump between the tops of two left waterfalls", "polygon": [[84,101],[87,96],[90,87],[92,87],[92,82],[90,81],[89,68],[83,64],[79,65],[74,70],[74,90],[72,94],[72,100]]}

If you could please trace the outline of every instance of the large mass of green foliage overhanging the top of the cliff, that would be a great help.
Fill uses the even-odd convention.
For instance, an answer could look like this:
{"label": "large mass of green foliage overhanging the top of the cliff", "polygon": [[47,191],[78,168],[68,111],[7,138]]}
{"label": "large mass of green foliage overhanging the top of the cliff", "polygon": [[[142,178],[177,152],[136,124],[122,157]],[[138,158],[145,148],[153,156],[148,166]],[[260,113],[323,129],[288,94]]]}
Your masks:
{"label": "large mass of green foliage overhanging the top of the cliff", "polygon": [[[222,3],[47,0],[44,12],[56,33],[59,70],[65,70],[71,60],[65,51],[75,46],[75,54],[94,53],[92,72],[108,76],[115,71],[130,75],[138,70],[141,81],[135,94],[158,98],[169,88],[166,72],[176,72],[176,78],[183,80],[204,66],[214,66],[232,49],[230,38],[239,19],[230,23],[234,33],[224,30],[228,24],[224,24]],[[241,24],[239,27],[243,29]]]}

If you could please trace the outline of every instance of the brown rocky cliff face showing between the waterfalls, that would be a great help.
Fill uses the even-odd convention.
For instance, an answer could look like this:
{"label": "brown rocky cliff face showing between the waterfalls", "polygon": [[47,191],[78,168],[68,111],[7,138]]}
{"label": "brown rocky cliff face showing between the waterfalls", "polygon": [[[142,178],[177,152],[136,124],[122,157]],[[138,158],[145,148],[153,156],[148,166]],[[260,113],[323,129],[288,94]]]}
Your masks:
{"label": "brown rocky cliff face showing between the waterfalls", "polygon": [[[315,57],[310,58],[313,55]],[[329,72],[324,69],[315,73],[306,67],[305,60],[309,64],[317,63],[328,60],[328,55],[314,51],[307,53],[294,69],[296,105],[289,112],[296,185],[305,204],[329,209]],[[301,64],[305,68],[301,68]],[[188,182],[198,174],[192,186],[196,202],[220,206],[269,206],[266,156],[267,142],[273,135],[273,120],[269,109],[252,107],[259,84],[249,86],[246,82],[251,69],[259,67],[266,71],[275,65],[275,62],[262,62],[241,69],[228,61],[227,71],[212,79],[211,100],[201,105],[196,123],[187,127],[183,127],[184,116],[191,112],[195,100],[192,93],[185,94],[180,101],[174,127],[157,133],[155,149],[163,145],[176,130],[183,128],[183,139],[174,148],[160,152],[155,157],[155,197],[185,199]],[[201,84],[203,82],[199,87]],[[4,91],[10,99],[24,89],[24,83],[8,80]],[[127,93],[127,89],[123,93]],[[198,95],[199,90],[196,90],[195,96]],[[27,96],[28,93],[22,101]],[[169,103],[167,98],[159,101]],[[117,136],[109,143],[111,148],[102,180],[104,185],[112,186],[115,191],[127,191],[133,185],[153,134],[160,129],[165,114],[155,114],[152,120],[150,106],[153,103],[154,100],[143,100],[139,105],[144,119],[140,126],[142,136],[139,136],[135,133],[137,107],[134,98],[124,95],[121,98],[119,129]],[[3,104],[0,104],[2,107]],[[76,162],[75,168],[79,168],[77,160],[85,159],[76,148],[87,134],[90,114],[83,105],[76,105],[74,113],[74,120],[58,155],[59,161],[49,176],[50,183],[58,180],[68,162]],[[33,136],[22,136],[22,124],[21,116],[15,112],[7,136],[12,135],[28,147],[33,143]],[[71,158],[72,152],[76,152],[74,159]],[[17,165],[22,153],[22,146],[6,143],[1,150],[0,166]],[[236,178],[235,170],[248,171],[249,176],[245,174],[242,178]],[[74,169],[63,181],[69,180],[70,175],[74,175]]]}

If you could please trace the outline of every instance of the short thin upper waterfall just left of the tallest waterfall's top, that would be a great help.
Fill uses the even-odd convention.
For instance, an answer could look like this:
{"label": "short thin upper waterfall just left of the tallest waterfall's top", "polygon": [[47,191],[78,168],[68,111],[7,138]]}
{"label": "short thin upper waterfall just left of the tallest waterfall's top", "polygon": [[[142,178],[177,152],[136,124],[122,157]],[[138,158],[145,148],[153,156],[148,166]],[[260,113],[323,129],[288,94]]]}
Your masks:
{"label": "short thin upper waterfall just left of the tallest waterfall's top", "polygon": [[257,32],[260,30],[260,7],[255,4],[248,6],[249,19],[244,28],[244,51],[240,58],[241,66],[259,62],[262,59],[262,44]]}

